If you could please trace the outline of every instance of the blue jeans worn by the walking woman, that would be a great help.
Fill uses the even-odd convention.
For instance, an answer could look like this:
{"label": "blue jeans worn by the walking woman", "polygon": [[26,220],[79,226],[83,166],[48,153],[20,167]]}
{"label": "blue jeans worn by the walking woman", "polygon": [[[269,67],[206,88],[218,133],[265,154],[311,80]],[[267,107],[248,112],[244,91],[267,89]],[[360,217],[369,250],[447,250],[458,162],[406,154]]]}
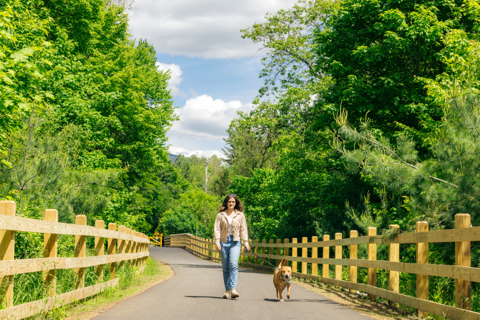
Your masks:
{"label": "blue jeans worn by the walking woman", "polygon": [[221,269],[225,290],[236,289],[238,277],[238,257],[240,256],[240,240],[233,241],[233,235],[226,237],[226,242],[220,241]]}

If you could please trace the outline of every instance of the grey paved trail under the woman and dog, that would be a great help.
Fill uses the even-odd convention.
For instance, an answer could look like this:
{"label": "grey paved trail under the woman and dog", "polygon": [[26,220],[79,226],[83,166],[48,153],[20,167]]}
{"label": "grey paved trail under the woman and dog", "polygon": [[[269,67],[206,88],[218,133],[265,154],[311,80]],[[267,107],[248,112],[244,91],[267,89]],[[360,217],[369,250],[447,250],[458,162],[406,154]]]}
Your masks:
{"label": "grey paved trail under the woman and dog", "polygon": [[240,268],[237,299],[222,299],[219,263],[202,260],[180,248],[150,247],[150,256],[168,263],[175,275],[118,303],[95,320],[368,320],[317,293],[292,284],[290,299],[279,302],[272,277]]}

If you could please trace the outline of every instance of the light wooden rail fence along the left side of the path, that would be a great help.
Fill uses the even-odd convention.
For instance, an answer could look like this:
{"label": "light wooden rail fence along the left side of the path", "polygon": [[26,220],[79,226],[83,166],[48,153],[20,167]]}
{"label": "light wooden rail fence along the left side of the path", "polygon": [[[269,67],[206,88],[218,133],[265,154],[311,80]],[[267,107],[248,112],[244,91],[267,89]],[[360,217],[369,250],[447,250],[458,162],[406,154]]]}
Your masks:
{"label": "light wooden rail fence along the left side of the path", "polygon": [[[14,259],[15,231],[43,233],[43,258]],[[57,234],[75,235],[74,257],[57,256]],[[85,256],[86,236],[95,237],[94,256]],[[107,238],[107,254],[104,254],[104,238]],[[45,210],[43,220],[15,216],[14,201],[0,201],[0,299],[6,305],[0,310],[0,320],[22,319],[61,305],[83,299],[105,288],[118,284],[115,278],[115,262],[130,263],[140,269],[148,258],[148,236],[124,225],[102,220],[95,226],[86,225],[86,216],[77,215],[75,224],[58,222],[58,211]],[[117,243],[118,240],[118,243]],[[127,261],[128,262],[125,262]],[[108,263],[110,278],[103,279],[103,265]],[[96,266],[96,284],[85,287],[85,267]],[[56,294],[56,270],[74,269],[76,289]],[[13,305],[13,276],[20,273],[43,272],[45,298]]]}

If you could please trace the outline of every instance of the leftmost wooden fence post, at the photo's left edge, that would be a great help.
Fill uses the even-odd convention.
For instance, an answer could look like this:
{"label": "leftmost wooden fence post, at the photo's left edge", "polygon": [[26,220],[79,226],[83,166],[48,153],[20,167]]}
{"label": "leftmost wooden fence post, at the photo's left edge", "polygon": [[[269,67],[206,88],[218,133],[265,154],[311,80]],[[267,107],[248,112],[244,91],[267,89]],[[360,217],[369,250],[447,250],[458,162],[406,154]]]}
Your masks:
{"label": "leftmost wooden fence post, at the photo's left edge", "polygon": [[[15,201],[0,201],[0,214],[15,215]],[[0,230],[0,259],[13,260],[15,258],[15,231]],[[1,279],[1,299],[8,308],[13,306],[13,275],[5,275]]]}

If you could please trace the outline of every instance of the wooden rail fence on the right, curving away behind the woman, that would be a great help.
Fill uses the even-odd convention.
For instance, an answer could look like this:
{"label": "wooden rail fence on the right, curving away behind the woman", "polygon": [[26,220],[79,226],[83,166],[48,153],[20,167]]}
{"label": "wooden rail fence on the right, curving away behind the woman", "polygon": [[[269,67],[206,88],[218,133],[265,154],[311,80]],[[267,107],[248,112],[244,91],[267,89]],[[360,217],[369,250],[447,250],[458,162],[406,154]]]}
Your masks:
{"label": "wooden rail fence on the right, curving away behind the woman", "polygon": [[[390,225],[398,228],[398,225]],[[444,316],[454,320],[480,320],[480,313],[470,310],[471,285],[470,281],[480,282],[480,268],[470,267],[470,241],[480,241],[480,226],[471,227],[469,214],[455,215],[455,228],[446,230],[428,231],[428,223],[416,223],[416,232],[399,233],[395,237],[385,237],[376,234],[376,228],[368,228],[367,235],[358,236],[356,230],[351,230],[349,238],[343,238],[341,233],[335,233],[335,239],[330,240],[329,235],[323,235],[322,241],[313,236],[311,242],[306,237],[298,243],[296,238],[277,239],[276,243],[270,239],[254,240],[250,243],[252,250],[263,258],[268,258],[277,265],[285,257],[292,261],[292,275],[300,278],[315,279],[323,283],[332,284],[349,289],[351,292],[361,291],[375,299],[377,296],[387,299],[389,305],[400,303],[418,310],[418,315],[425,317],[427,313]],[[429,242],[455,242],[455,265],[429,264]],[[388,261],[376,259],[376,245],[388,244]],[[399,244],[416,244],[416,263],[399,262]],[[183,247],[190,252],[212,260],[220,261],[219,253],[212,239],[199,238],[184,233],[166,236],[165,246]],[[367,259],[357,259],[358,244],[366,244]],[[342,246],[349,246],[349,257],[342,257]],[[329,256],[330,247],[334,246],[334,257]],[[318,248],[323,248],[322,257],[318,257]],[[268,254],[266,249],[268,248]],[[283,248],[283,254],[281,253]],[[290,248],[292,248],[290,250]],[[301,256],[297,256],[297,249],[301,248]],[[311,256],[308,257],[308,248]],[[275,252],[276,251],[276,252]],[[291,252],[291,255],[290,255]],[[275,253],[275,254],[274,254]],[[245,266],[272,267],[258,265],[259,259],[250,252],[244,252],[241,246],[240,264]],[[301,272],[297,270],[297,263],[301,263]],[[307,273],[307,264],[311,264],[311,274]],[[318,264],[322,264],[322,275],[317,275]],[[335,276],[330,278],[329,265],[335,266]],[[349,280],[342,280],[342,265],[349,266]],[[357,283],[357,267],[367,269],[367,284]],[[376,269],[388,270],[388,290],[376,286]],[[416,274],[416,297],[399,293],[399,272]],[[429,301],[428,276],[442,276],[455,279],[455,306]]]}

